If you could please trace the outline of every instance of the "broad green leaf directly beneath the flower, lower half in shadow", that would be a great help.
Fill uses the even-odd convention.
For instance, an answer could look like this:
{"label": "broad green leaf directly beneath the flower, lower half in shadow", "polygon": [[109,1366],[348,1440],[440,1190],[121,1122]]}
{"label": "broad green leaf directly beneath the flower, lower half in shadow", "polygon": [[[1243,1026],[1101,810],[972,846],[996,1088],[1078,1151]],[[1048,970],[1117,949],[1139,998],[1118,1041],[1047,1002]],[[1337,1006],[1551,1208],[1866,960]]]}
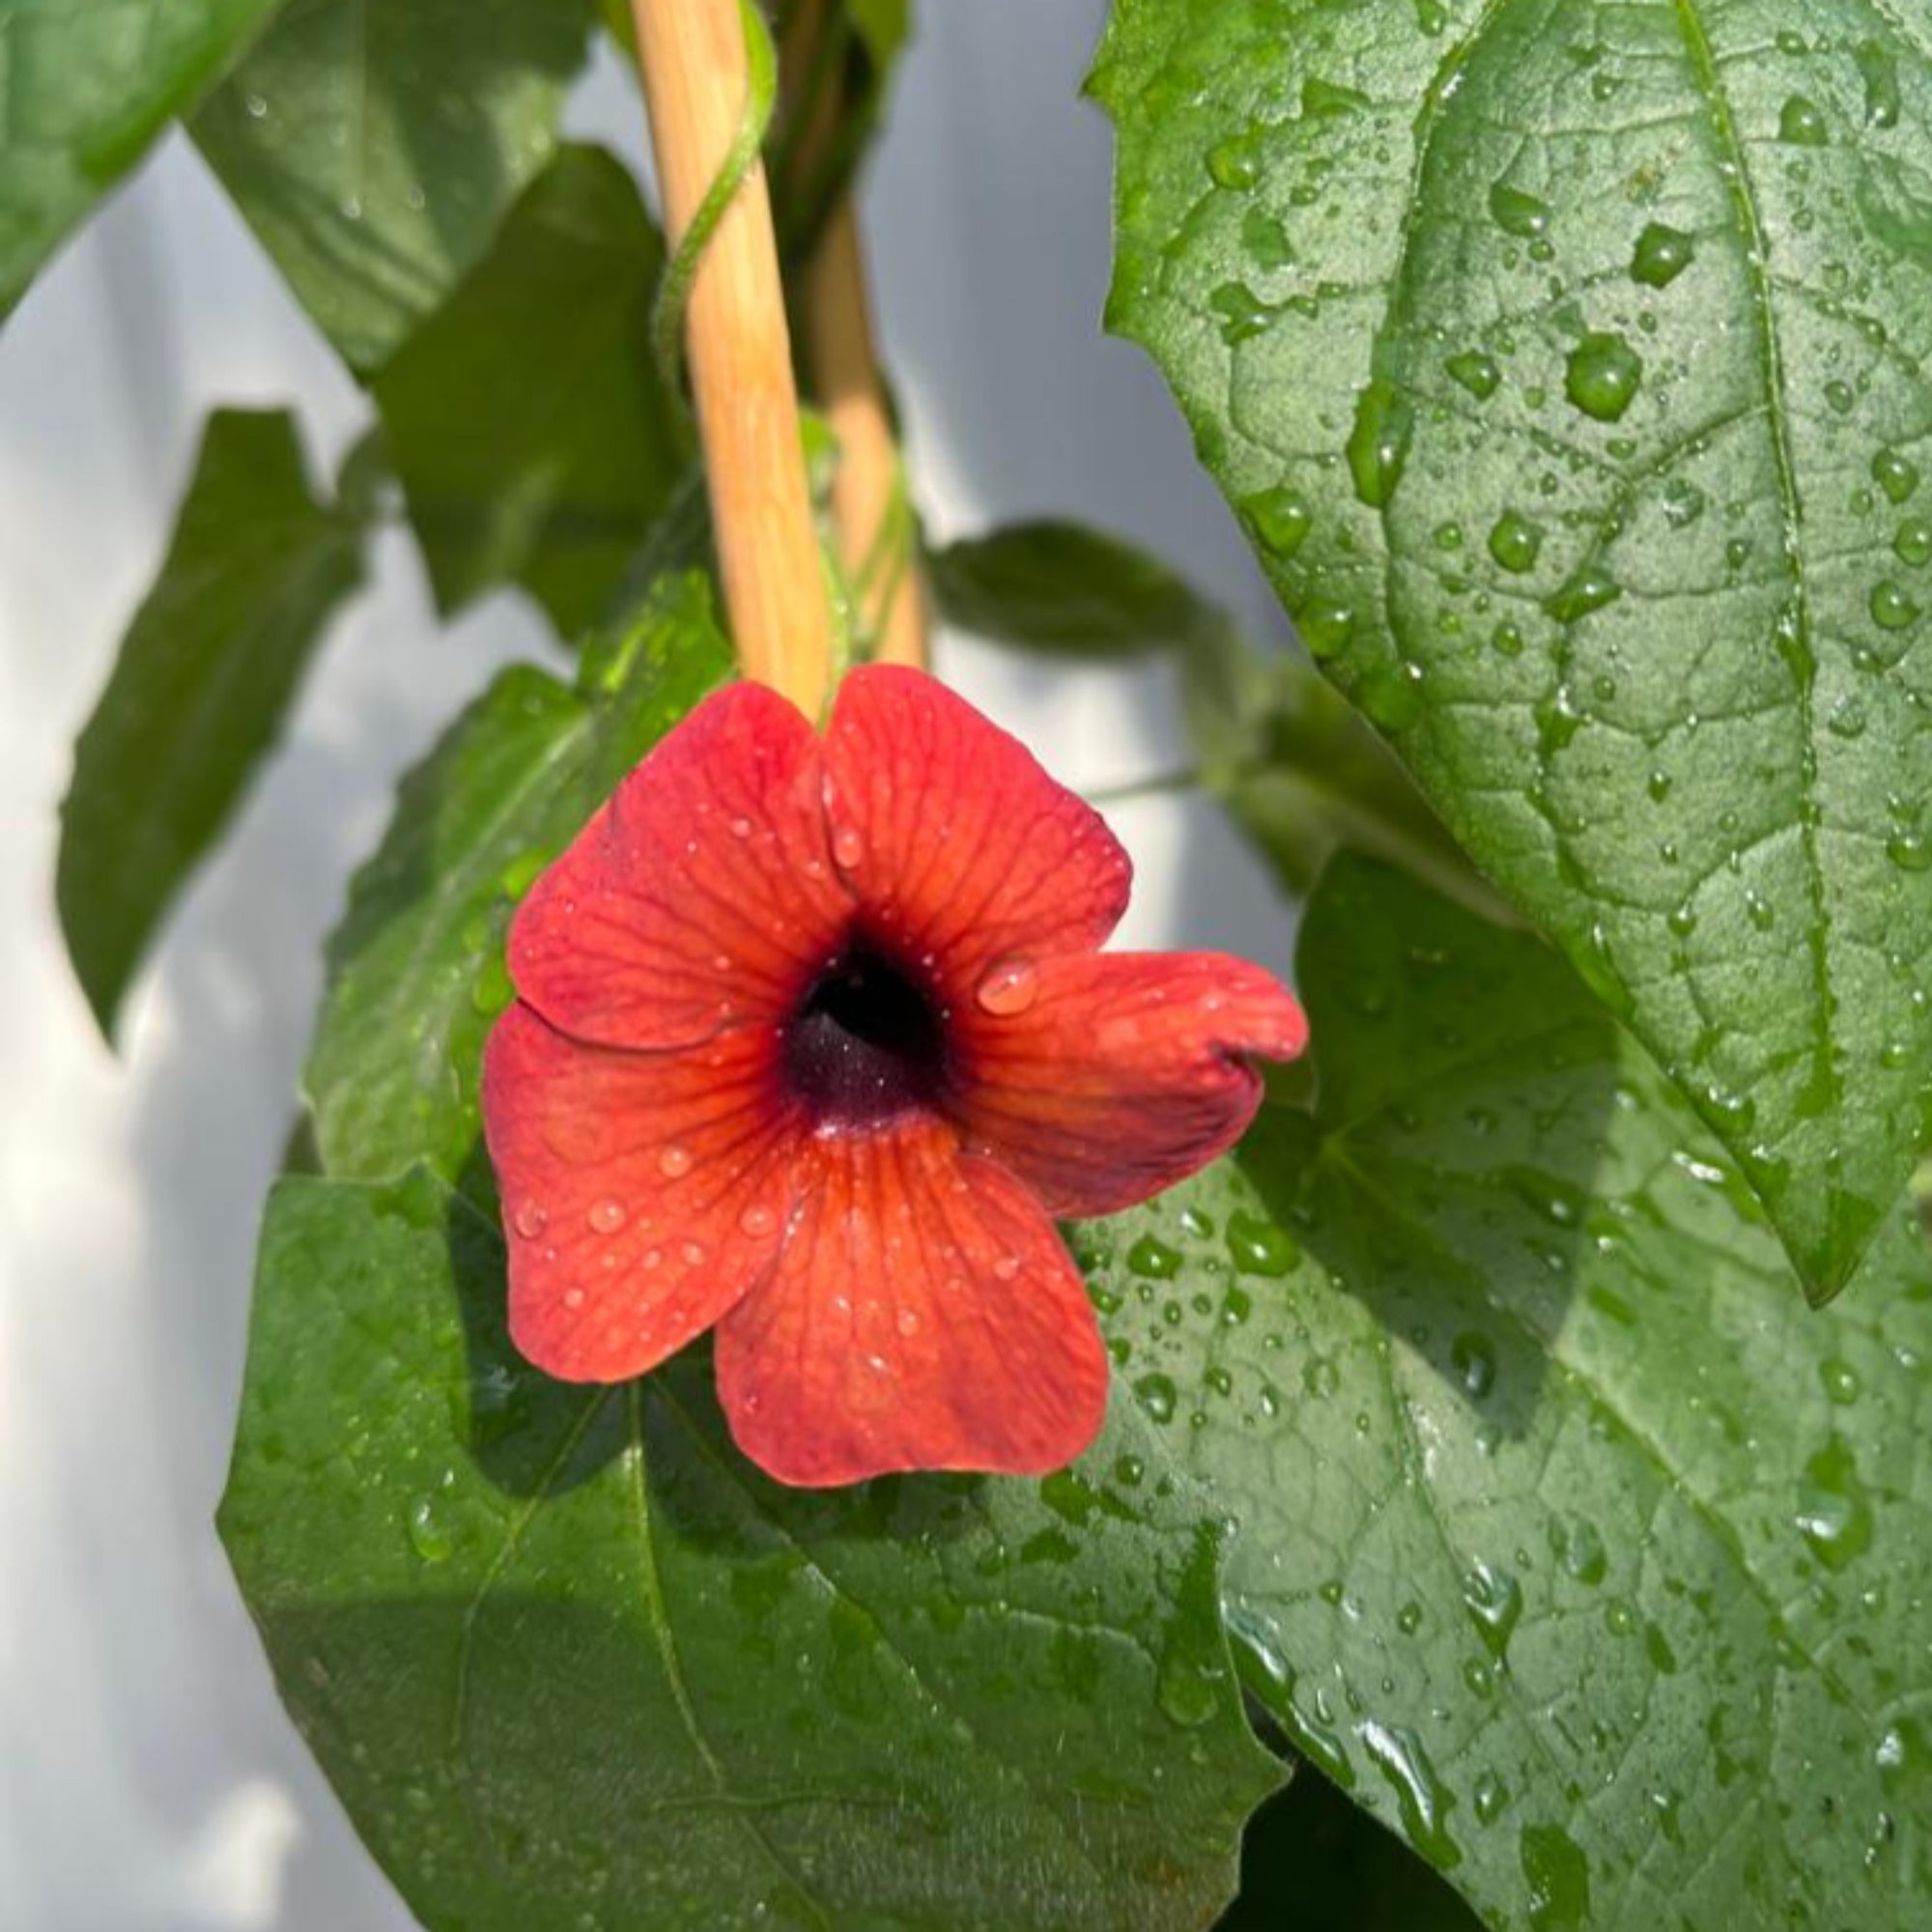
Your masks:
{"label": "broad green leaf directly beneath the flower, lower half in shadow", "polygon": [[1217,1530],[1076,1470],[761,1478],[703,1360],[582,1389],[427,1175],[290,1180],[220,1524],[282,1694],[429,1932],[1200,1926],[1275,1779]]}

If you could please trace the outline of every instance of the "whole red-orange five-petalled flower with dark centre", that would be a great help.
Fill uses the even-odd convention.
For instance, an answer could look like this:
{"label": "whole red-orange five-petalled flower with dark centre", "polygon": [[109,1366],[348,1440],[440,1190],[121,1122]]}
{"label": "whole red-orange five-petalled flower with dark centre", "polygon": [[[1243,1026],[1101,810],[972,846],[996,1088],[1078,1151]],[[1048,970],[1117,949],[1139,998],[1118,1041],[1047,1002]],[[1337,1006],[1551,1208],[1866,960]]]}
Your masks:
{"label": "whole red-orange five-petalled flower with dark centre", "polygon": [[1254,1117],[1300,1009],[1211,952],[1095,949],[1105,823],[914,670],[819,738],[719,692],[510,927],[483,1068],[510,1333],[620,1381],[717,1327],[740,1447],[792,1484],[1041,1472],[1107,1354],[1053,1215],[1146,1200]]}

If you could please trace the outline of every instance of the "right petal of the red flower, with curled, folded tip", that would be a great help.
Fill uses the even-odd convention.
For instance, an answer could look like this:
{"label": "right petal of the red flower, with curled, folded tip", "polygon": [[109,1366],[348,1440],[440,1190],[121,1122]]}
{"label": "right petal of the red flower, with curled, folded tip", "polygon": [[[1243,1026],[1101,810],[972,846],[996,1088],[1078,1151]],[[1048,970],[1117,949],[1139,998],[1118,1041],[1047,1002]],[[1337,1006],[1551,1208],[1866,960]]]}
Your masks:
{"label": "right petal of the red flower, with curled, folded tip", "polygon": [[1003,1005],[956,1016],[954,1119],[1053,1215],[1117,1213],[1206,1167],[1262,1101],[1244,1057],[1308,1039],[1287,987],[1219,952],[1041,960],[1028,1001]]}

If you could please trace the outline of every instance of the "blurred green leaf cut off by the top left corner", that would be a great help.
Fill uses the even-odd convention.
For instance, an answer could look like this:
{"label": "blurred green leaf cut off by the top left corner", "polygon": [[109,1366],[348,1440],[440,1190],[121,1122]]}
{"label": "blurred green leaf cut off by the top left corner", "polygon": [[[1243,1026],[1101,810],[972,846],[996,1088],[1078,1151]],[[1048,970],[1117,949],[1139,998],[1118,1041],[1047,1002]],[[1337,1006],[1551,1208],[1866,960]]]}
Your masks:
{"label": "blurred green leaf cut off by the top left corner", "polygon": [[0,0],[0,317],[274,0]]}

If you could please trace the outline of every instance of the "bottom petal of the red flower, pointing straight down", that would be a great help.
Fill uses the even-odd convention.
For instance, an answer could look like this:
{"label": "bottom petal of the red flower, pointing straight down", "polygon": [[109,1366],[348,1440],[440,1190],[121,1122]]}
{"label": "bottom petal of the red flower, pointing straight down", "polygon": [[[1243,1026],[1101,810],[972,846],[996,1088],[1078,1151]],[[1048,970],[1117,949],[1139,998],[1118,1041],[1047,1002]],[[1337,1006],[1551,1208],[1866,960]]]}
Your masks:
{"label": "bottom petal of the red flower, pointing straight down", "polygon": [[719,1323],[732,1435],[781,1482],[1041,1474],[1107,1408],[1107,1350],[1059,1235],[937,1124],[813,1146],[779,1265]]}

